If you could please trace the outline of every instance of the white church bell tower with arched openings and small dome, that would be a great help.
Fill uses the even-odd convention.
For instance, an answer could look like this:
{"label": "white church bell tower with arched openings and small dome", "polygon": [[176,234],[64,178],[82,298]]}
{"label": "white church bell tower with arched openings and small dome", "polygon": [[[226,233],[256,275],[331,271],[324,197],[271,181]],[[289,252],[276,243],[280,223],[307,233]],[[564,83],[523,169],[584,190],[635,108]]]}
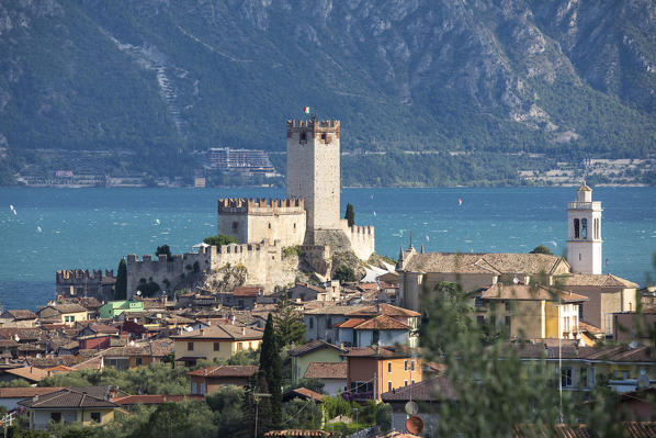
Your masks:
{"label": "white church bell tower with arched openings and small dome", "polygon": [[601,273],[601,202],[586,183],[567,203],[567,261],[576,273]]}

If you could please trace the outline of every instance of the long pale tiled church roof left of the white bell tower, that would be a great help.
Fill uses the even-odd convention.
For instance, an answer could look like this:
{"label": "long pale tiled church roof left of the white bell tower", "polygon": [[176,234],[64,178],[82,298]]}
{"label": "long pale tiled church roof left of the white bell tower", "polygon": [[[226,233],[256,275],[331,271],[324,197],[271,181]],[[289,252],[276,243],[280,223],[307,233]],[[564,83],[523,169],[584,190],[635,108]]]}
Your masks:
{"label": "long pale tiled church roof left of the white bell tower", "polygon": [[[461,273],[556,273],[563,258],[545,254],[425,252],[410,258],[405,271]],[[567,269],[568,270],[568,269]]]}

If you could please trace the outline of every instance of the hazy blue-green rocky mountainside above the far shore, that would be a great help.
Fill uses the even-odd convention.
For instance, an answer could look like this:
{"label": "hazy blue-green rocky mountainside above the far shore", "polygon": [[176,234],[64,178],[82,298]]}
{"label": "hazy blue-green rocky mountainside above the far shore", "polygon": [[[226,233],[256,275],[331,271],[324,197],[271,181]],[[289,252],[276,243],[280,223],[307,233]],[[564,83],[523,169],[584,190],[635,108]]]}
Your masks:
{"label": "hazy blue-green rocky mountainside above the far shore", "polygon": [[645,156],[655,15],[654,0],[1,2],[0,147],[280,150],[310,105],[342,120],[346,149]]}

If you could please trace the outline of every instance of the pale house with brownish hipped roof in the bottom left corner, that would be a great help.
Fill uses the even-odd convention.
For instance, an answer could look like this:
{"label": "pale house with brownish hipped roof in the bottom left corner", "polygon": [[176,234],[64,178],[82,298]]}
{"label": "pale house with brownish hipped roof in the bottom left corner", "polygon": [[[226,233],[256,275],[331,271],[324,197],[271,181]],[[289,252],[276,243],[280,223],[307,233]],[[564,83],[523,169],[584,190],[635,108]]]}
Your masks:
{"label": "pale house with brownish hipped roof in the bottom left corner", "polygon": [[49,423],[104,425],[121,406],[111,402],[106,388],[65,388],[60,391],[19,402],[30,413],[30,429],[45,430]]}

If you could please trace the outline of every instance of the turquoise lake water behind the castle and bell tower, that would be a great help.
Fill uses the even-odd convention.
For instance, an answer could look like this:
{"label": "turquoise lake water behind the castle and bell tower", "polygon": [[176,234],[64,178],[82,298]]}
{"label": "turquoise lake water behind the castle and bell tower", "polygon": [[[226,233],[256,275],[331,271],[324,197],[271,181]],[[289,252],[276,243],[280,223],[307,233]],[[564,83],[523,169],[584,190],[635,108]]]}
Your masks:
{"label": "turquoise lake water behind the castle and bell tower", "polygon": [[[122,256],[152,254],[162,244],[189,251],[216,234],[218,198],[284,195],[284,189],[0,188],[0,302],[45,304],[57,269],[116,269]],[[342,212],[354,205],[358,224],[376,227],[376,251],[396,259],[409,232],[427,251],[528,252],[546,245],[563,255],[575,195],[574,188],[344,189],[341,201]],[[647,272],[656,277],[656,188],[597,188],[592,196],[604,209],[604,272],[641,284]]]}

